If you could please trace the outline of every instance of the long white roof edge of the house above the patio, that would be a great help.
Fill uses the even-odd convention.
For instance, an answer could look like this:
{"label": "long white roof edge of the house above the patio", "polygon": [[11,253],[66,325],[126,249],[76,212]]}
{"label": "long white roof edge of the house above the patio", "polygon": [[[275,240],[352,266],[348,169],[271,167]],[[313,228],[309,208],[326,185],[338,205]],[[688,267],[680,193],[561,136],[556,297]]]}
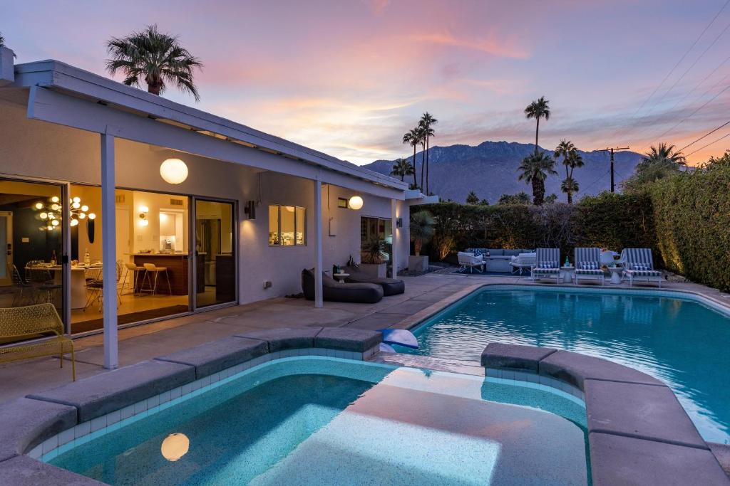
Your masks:
{"label": "long white roof edge of the house above the patio", "polygon": [[242,144],[264,152],[279,154],[356,179],[405,191],[408,184],[381,173],[369,171],[346,160],[295,144],[269,133],[218,117],[207,111],[170,101],[136,87],[123,85],[58,60],[41,60],[15,65],[15,87],[53,87],[107,106],[131,111],[171,125],[195,130],[204,135]]}

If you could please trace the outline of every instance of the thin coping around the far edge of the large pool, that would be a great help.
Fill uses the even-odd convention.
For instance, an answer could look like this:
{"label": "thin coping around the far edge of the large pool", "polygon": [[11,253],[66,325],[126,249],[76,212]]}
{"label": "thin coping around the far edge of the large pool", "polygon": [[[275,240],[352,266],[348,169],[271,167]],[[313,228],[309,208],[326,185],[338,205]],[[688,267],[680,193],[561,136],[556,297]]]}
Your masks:
{"label": "thin coping around the far edge of the large pool", "polygon": [[[456,305],[457,302],[460,302],[468,297],[470,297],[472,294],[475,294],[475,292],[480,291],[481,289],[486,289],[489,287],[496,287],[497,289],[504,289],[504,290],[513,290],[513,289],[545,289],[545,290],[553,290],[553,291],[560,291],[565,290],[569,292],[576,292],[577,293],[596,293],[596,294],[633,294],[633,295],[646,295],[650,297],[675,297],[679,299],[688,299],[693,302],[698,302],[699,304],[707,305],[707,307],[712,308],[712,310],[715,310],[719,313],[722,313],[726,317],[730,318],[730,302],[723,302],[720,299],[715,299],[715,297],[712,297],[707,294],[703,294],[700,291],[695,291],[691,289],[667,289],[667,288],[658,288],[658,287],[607,287],[607,286],[587,286],[587,285],[576,285],[575,283],[572,284],[556,284],[556,283],[537,283],[537,282],[531,282],[531,281],[525,281],[525,282],[513,282],[513,283],[475,283],[473,285],[466,286],[464,289],[456,292],[455,294],[450,295],[449,297],[446,297],[445,299],[441,299],[438,302],[434,302],[434,304],[429,305],[429,307],[426,307],[423,310],[418,311],[418,313],[409,315],[407,318],[402,319],[401,321],[394,324],[393,328],[397,329],[410,329],[414,330],[418,328],[419,326],[426,324],[426,321],[430,318],[433,318],[438,313],[442,312],[442,310],[447,309],[447,307],[451,307],[453,305]],[[719,292],[719,291],[718,291]]]}

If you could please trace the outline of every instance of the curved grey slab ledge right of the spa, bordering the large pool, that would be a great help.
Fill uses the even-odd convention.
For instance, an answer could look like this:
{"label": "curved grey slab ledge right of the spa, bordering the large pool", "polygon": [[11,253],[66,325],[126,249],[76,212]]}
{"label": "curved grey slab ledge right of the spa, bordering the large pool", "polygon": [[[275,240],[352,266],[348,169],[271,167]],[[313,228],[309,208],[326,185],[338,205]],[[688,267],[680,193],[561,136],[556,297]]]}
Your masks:
{"label": "curved grey slab ledge right of the spa, bordering the large pool", "polygon": [[569,351],[489,344],[485,375],[583,394],[593,485],[729,485],[718,459],[664,383]]}

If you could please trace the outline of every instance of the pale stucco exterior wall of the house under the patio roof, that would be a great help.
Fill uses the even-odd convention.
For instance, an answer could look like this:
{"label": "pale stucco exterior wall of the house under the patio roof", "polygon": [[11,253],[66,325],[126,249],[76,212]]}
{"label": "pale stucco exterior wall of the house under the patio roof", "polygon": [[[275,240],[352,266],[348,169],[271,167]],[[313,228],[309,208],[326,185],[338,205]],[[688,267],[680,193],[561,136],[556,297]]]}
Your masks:
{"label": "pale stucco exterior wall of the house under the patio roof", "polygon": [[[13,103],[0,99],[0,173],[58,179],[82,184],[99,184],[99,135],[82,130],[27,119],[23,99]],[[116,181],[119,187],[165,193],[237,200],[239,219],[239,300],[253,302],[301,291],[300,272],[315,263],[314,184],[307,179],[280,173],[255,171],[162,147],[118,139],[115,144]],[[179,157],[188,164],[188,179],[176,186],[159,175],[160,163]],[[344,264],[360,254],[360,216],[391,217],[391,200],[361,194],[360,211],[337,208],[337,197],[349,198],[352,191],[323,184],[323,267]],[[244,203],[255,200],[256,219],[243,213]],[[269,247],[268,205],[297,205],[307,208],[307,245]],[[407,265],[407,216],[405,203],[398,203],[404,227],[398,267]],[[97,211],[101,212],[101,211]],[[135,211],[131,211],[134,215]],[[337,235],[329,236],[329,218],[334,218]],[[395,223],[393,223],[395,226]],[[101,228],[100,222],[98,223]],[[264,289],[264,281],[272,287]]]}

